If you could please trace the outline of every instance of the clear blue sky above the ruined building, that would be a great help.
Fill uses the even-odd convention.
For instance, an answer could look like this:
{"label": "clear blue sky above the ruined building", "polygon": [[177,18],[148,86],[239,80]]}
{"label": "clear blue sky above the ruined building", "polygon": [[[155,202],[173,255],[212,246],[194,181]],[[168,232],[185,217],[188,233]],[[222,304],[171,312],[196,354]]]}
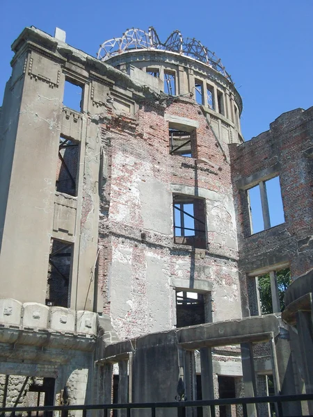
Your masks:
{"label": "clear blue sky above the ruined building", "polygon": [[313,105],[313,0],[42,1],[0,0],[0,104],[10,76],[10,44],[25,26],[95,56],[99,44],[131,27],[154,26],[161,41],[175,29],[221,58],[243,99],[245,140],[281,113]]}

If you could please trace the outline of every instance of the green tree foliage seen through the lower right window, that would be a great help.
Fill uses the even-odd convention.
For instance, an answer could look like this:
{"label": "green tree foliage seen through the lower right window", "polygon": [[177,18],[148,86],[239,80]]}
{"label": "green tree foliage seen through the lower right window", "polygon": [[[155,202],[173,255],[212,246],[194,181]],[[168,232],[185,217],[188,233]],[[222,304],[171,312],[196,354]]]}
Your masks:
{"label": "green tree foliage seen through the lower right window", "polygon": [[[278,291],[280,296],[280,310],[284,309],[284,292],[291,283],[291,276],[289,268],[276,271]],[[269,273],[259,277],[259,299],[261,302],[262,314],[273,313],[272,308],[272,294],[271,294],[271,280]]]}

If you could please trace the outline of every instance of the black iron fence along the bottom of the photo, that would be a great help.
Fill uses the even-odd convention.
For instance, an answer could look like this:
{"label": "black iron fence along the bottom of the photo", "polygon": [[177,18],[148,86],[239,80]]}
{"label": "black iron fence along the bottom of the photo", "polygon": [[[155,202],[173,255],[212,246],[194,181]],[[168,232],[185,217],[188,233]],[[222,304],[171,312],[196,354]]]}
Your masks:
{"label": "black iron fence along the bottom of the photo", "polygon": [[[210,411],[211,417],[216,416],[216,407],[239,405],[242,407],[240,414],[243,417],[253,415],[253,408],[257,404],[274,404],[276,417],[300,417],[312,416],[312,414],[291,414],[289,407],[294,402],[310,402],[313,401],[313,394],[303,395],[275,395],[269,397],[252,397],[252,398],[227,398],[218,400],[198,400],[198,401],[176,401],[176,402],[134,402],[128,404],[92,404],[92,405],[63,405],[63,406],[42,406],[42,407],[0,407],[1,417],[19,417],[19,416],[52,416],[54,411],[59,411],[59,416],[66,417],[69,411],[81,411],[82,417],[88,416],[88,411],[102,411],[103,417],[109,417],[111,410],[126,410],[127,417],[131,417],[133,410],[146,409],[149,410],[151,417],[157,416],[158,409],[177,409],[177,416],[184,417],[186,409],[206,409]],[[204,408],[203,408],[204,407]],[[310,409],[310,405],[308,409]],[[72,413],[70,413],[72,414]],[[207,414],[208,415],[208,414]]]}

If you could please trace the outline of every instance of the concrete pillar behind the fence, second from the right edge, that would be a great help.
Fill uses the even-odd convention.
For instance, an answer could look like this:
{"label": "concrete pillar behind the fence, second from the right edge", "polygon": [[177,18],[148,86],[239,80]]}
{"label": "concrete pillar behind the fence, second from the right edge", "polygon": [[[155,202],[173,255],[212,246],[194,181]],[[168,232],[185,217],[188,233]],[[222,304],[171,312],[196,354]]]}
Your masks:
{"label": "concrete pillar behind the fence, second from the right edge", "polygon": [[[289,332],[284,327],[275,338],[275,350],[278,368],[279,393],[281,395],[296,395],[296,375],[291,358]],[[284,416],[300,416],[300,402],[282,402]]]}

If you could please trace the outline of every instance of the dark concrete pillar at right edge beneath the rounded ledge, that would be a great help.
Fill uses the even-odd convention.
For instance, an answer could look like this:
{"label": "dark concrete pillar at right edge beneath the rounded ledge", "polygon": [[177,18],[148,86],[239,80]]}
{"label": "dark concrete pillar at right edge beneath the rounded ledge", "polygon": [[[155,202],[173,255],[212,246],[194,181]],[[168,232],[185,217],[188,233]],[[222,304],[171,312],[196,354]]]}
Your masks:
{"label": "dark concrete pillar at right edge beneath the rounded ledge", "polygon": [[[313,341],[312,334],[310,332],[311,313],[307,311],[298,311],[297,317],[297,329],[299,336],[299,345],[301,358],[303,362],[303,375],[305,379],[305,392],[307,394],[313,393]],[[313,415],[313,402],[308,402],[310,415]]]}

